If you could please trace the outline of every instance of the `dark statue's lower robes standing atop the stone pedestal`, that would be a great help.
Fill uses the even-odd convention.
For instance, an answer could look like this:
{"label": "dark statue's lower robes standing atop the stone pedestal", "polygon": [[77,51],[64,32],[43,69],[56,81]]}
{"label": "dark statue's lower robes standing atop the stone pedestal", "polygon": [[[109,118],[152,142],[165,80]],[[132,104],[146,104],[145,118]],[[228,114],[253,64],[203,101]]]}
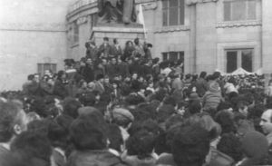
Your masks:
{"label": "dark statue's lower robes standing atop the stone pedestal", "polygon": [[136,22],[134,0],[98,0],[98,24],[131,24]]}

